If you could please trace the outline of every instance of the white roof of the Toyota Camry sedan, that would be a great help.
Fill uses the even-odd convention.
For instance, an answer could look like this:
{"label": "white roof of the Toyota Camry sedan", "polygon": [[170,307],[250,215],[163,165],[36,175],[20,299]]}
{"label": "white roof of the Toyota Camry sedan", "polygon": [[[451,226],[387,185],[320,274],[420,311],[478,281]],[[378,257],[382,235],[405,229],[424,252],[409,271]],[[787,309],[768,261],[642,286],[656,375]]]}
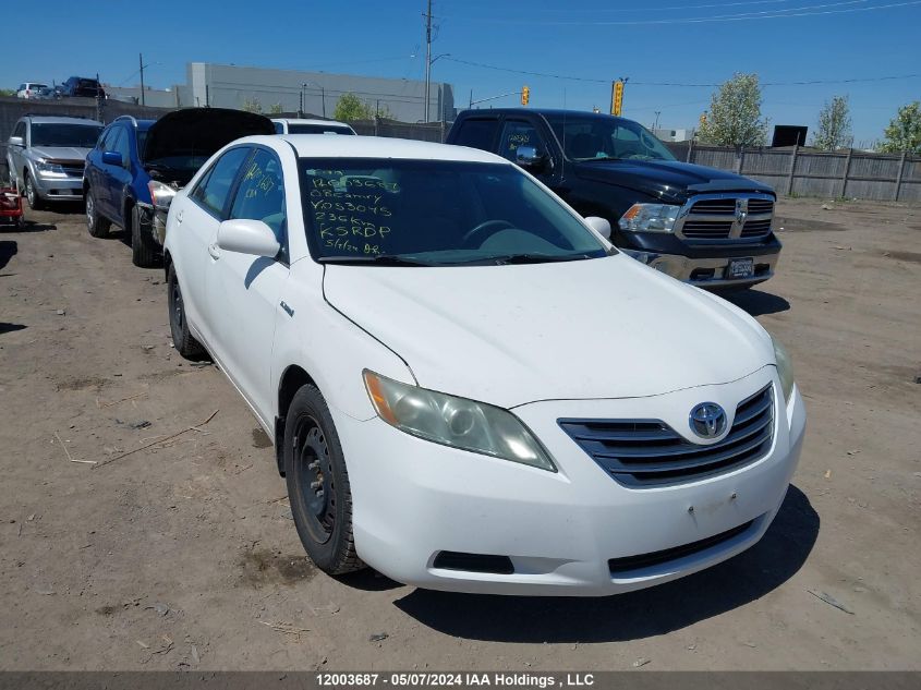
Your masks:
{"label": "white roof of the Toyota Camry sedan", "polygon": [[263,144],[275,148],[279,142],[288,142],[301,158],[399,158],[511,165],[505,158],[478,148],[383,136],[276,134],[275,136],[247,136],[234,143]]}

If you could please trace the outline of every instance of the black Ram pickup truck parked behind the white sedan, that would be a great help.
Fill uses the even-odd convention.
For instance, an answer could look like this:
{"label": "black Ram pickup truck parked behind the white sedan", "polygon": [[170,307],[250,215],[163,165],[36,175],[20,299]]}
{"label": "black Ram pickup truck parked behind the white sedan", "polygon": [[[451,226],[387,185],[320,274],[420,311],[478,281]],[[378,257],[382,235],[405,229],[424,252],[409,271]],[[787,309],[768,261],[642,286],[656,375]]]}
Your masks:
{"label": "black Ram pickup truck parked behind the white sedan", "polygon": [[498,154],[582,216],[611,225],[634,258],[701,288],[746,288],[774,275],[774,191],[675,156],[641,124],[571,110],[465,110],[448,144]]}

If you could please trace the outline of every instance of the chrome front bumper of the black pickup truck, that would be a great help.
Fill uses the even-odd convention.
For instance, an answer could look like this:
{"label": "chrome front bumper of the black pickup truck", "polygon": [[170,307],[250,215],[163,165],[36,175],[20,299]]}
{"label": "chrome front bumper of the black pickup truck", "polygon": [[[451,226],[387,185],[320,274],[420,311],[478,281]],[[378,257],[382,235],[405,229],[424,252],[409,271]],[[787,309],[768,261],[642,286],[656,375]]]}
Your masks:
{"label": "chrome front bumper of the black pickup truck", "polygon": [[[775,254],[752,256],[744,250],[737,250],[734,256],[701,258],[628,249],[622,249],[621,252],[672,278],[699,288],[743,288],[764,282],[774,275],[780,258],[779,251]],[[727,277],[729,262],[734,258],[753,258],[754,275],[750,278]]]}

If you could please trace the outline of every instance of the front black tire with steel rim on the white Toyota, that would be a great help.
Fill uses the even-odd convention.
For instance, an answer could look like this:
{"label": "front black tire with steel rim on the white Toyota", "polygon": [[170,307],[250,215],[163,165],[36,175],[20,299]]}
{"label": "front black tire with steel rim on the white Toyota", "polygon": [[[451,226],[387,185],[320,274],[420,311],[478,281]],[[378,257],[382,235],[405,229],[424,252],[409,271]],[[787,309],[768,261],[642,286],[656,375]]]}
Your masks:
{"label": "front black tire with steel rim on the white Toyota", "polygon": [[315,386],[303,386],[284,419],[284,480],[301,543],[329,574],[365,567],[355,553],[352,492],[339,435]]}

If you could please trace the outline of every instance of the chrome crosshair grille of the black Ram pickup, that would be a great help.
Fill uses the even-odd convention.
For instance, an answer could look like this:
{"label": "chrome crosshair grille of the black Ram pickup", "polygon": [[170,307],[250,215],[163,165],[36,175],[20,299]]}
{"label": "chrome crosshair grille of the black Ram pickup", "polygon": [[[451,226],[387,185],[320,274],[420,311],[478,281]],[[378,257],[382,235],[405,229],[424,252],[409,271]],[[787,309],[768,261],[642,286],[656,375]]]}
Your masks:
{"label": "chrome crosshair grille of the black Ram pickup", "polygon": [[771,234],[774,199],[768,195],[692,197],[681,209],[675,233],[688,242],[756,241]]}

